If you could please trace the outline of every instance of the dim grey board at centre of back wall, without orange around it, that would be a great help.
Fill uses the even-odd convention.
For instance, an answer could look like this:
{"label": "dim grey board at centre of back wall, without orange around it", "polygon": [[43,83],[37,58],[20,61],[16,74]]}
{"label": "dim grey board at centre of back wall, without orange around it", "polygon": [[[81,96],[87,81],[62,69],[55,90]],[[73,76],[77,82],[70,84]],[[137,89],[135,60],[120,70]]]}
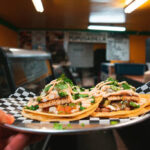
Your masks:
{"label": "dim grey board at centre of back wall, without orange around it", "polygon": [[69,43],[68,56],[72,67],[93,67],[93,44]]}

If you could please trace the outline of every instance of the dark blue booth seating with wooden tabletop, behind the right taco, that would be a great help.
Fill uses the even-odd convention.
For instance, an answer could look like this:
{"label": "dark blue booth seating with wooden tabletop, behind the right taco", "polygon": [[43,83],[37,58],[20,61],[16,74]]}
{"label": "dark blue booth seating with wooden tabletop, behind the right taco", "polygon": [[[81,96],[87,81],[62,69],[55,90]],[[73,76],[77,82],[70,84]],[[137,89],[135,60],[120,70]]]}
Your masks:
{"label": "dark blue booth seating with wooden tabletop, behind the right taco", "polygon": [[133,63],[102,63],[101,65],[101,80],[106,80],[108,77],[114,77],[118,81],[127,81],[135,87],[144,84],[144,72],[147,70],[145,64]]}

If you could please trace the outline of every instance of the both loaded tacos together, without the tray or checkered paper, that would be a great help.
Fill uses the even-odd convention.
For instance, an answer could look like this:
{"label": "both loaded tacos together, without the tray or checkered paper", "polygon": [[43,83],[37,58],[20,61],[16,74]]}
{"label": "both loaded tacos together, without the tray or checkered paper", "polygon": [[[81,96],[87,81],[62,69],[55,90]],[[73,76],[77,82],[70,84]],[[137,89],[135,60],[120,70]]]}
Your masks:
{"label": "both loaded tacos together, without the tray or checkered paper", "polygon": [[126,81],[107,78],[85,89],[64,74],[31,98],[22,115],[40,121],[71,121],[88,116],[100,118],[136,117],[150,111],[150,95],[139,94]]}

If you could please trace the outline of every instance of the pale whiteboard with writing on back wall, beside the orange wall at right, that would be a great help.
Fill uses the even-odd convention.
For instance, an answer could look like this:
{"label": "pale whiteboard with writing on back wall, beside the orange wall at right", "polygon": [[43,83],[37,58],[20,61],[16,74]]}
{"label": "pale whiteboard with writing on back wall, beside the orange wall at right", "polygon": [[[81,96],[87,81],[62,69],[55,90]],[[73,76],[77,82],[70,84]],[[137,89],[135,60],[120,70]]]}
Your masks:
{"label": "pale whiteboard with writing on back wall, beside the orange wall at right", "polygon": [[107,60],[129,61],[129,39],[128,38],[108,38],[106,45]]}

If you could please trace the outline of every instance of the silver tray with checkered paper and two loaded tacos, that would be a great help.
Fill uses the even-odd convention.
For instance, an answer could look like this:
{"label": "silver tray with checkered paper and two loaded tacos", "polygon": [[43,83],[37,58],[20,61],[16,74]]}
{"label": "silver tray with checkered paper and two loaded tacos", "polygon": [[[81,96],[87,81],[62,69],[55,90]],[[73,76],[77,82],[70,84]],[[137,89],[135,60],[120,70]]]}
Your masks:
{"label": "silver tray with checkered paper and two loaded tacos", "polygon": [[[143,91],[145,86],[149,89],[149,83]],[[103,130],[149,118],[150,94],[143,91],[137,93],[126,81],[113,78],[85,89],[61,75],[38,96],[18,88],[10,98],[0,100],[0,109],[14,115],[15,123],[5,126],[18,131],[56,134]]]}

